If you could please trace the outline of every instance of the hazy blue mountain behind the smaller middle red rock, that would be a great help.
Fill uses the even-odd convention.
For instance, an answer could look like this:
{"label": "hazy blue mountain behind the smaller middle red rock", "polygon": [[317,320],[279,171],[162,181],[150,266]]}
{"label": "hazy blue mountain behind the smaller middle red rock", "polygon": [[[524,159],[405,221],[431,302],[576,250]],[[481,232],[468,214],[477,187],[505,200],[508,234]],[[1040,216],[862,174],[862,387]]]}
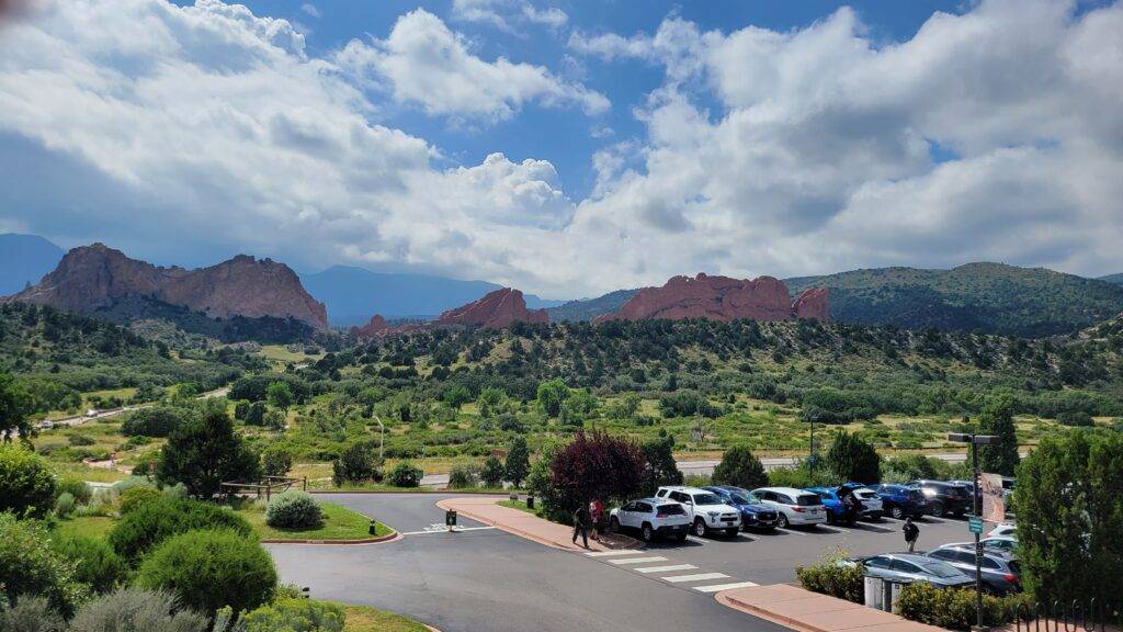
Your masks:
{"label": "hazy blue mountain behind the smaller middle red rock", "polygon": [[[386,318],[431,318],[503,287],[430,274],[372,272],[349,265],[302,274],[300,280],[309,294],[328,306],[331,324],[345,326],[366,323],[374,314]],[[532,309],[562,303],[533,295],[526,295],[526,299],[527,307]]]}

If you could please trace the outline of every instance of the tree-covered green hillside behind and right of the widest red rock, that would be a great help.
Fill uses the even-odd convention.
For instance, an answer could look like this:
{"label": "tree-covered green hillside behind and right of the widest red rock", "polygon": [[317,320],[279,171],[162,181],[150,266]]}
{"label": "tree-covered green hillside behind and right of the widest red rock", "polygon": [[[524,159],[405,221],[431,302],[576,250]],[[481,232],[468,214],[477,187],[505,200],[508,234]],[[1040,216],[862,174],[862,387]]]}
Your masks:
{"label": "tree-covered green hillside behind and right of the widest red rock", "polygon": [[880,268],[785,281],[793,295],[831,290],[831,317],[867,325],[1021,336],[1070,333],[1123,312],[1123,287],[1043,268],[969,263]]}

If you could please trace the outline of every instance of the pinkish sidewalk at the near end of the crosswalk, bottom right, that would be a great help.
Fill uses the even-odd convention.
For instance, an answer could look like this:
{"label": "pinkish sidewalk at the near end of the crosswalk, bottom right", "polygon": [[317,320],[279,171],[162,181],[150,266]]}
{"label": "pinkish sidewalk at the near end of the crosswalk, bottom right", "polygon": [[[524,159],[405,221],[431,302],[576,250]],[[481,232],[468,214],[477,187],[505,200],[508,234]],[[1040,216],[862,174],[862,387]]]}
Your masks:
{"label": "pinkish sidewalk at the near end of the crosswalk, bottom right", "polygon": [[800,632],[947,632],[787,584],[725,590],[718,602]]}

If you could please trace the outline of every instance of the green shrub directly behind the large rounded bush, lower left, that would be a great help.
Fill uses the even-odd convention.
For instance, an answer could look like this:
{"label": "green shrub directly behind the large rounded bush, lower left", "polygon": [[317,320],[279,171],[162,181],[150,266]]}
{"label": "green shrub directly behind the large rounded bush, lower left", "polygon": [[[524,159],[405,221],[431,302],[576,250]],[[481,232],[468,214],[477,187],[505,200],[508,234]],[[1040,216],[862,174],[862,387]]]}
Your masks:
{"label": "green shrub directly behind the large rounded bush, lower left", "polygon": [[200,500],[143,503],[121,516],[109,532],[109,543],[122,558],[135,561],[167,538],[191,530],[225,529],[250,535],[253,529],[228,508]]}

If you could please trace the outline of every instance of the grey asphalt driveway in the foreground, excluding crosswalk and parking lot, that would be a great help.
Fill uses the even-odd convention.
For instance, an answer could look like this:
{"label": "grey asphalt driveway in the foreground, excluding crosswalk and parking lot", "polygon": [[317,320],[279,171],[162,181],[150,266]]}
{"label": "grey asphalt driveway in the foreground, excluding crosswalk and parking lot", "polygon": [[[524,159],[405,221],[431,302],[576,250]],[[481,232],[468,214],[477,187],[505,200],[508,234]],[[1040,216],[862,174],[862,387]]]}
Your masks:
{"label": "grey asphalt driveway in the foreground, excluding crosswalk and parking lot", "polygon": [[268,545],[282,580],[309,586],[317,598],[373,605],[445,632],[786,630],[721,606],[711,594],[502,531],[424,533],[444,523],[433,504],[445,495],[321,497],[422,533],[387,544]]}

